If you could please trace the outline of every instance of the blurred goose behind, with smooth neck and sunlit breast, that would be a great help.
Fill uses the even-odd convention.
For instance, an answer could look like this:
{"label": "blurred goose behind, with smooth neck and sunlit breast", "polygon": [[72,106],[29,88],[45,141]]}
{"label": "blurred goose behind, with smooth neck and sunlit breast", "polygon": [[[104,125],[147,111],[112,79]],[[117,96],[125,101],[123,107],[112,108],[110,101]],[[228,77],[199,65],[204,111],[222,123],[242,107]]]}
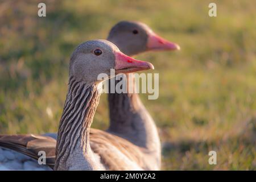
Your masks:
{"label": "blurred goose behind, with smooth neck and sunlit breast", "polygon": [[[109,32],[108,40],[129,56],[146,51],[174,51],[180,47],[157,35],[150,27],[141,22],[121,21]],[[130,73],[132,74],[132,73]],[[126,76],[129,88],[129,76]],[[133,88],[135,88],[134,77]],[[114,79],[114,78],[111,78]],[[110,84],[111,80],[109,81]],[[118,80],[112,81],[118,84]],[[115,85],[114,85],[115,86]],[[154,163],[151,169],[159,170],[161,147],[154,120],[144,107],[137,93],[109,93],[110,126],[107,131],[129,140],[147,150]],[[125,109],[124,109],[125,108]]]}

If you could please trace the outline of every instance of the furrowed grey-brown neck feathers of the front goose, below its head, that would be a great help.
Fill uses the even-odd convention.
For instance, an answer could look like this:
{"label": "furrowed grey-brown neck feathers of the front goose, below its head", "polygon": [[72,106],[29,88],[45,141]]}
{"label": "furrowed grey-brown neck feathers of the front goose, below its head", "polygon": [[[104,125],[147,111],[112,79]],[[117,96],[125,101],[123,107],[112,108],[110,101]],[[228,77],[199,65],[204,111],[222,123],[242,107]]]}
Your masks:
{"label": "furrowed grey-brown neck feathers of the front goose, below its head", "polygon": [[[83,154],[90,152],[89,129],[100,99],[99,85],[69,78],[68,93],[57,134],[55,169],[61,169],[80,144]],[[66,167],[64,169],[67,169]]]}

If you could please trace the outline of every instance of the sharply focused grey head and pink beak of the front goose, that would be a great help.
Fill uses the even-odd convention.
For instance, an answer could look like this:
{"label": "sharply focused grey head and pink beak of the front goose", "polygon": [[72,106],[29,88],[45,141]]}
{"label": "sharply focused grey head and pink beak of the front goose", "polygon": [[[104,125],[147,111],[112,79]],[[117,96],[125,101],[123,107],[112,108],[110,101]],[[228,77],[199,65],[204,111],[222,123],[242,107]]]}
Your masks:
{"label": "sharply focused grey head and pink beak of the front goose", "polygon": [[82,43],[75,49],[71,56],[69,76],[93,84],[98,82],[98,75],[102,73],[107,75],[107,80],[111,76],[111,69],[118,74],[154,69],[154,66],[125,55],[108,40],[98,39]]}

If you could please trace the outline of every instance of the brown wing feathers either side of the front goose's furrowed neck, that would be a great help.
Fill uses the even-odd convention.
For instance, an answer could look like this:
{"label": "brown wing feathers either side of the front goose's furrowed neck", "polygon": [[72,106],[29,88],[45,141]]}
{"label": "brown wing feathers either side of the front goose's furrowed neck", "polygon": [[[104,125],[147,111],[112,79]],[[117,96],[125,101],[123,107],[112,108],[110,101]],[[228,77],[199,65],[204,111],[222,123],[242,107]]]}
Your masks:
{"label": "brown wing feathers either side of the front goose's furrowed neck", "polygon": [[[55,164],[56,140],[42,135],[0,135],[0,146],[18,151],[38,159],[39,151],[46,152],[46,163],[53,168]],[[110,170],[120,170],[120,161],[114,160],[113,150],[122,152],[128,159],[143,167],[143,148],[105,131],[90,129],[90,147],[101,157],[102,163]],[[112,150],[109,150],[112,148]],[[124,168],[125,169],[125,168]]]}

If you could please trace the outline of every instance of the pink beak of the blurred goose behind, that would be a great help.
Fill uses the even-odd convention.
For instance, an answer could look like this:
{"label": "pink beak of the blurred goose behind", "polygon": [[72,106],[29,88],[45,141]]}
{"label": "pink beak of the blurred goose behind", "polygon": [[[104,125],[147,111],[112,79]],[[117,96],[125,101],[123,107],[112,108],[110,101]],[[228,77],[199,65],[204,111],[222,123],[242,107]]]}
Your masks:
{"label": "pink beak of the blurred goose behind", "polygon": [[176,43],[169,42],[166,39],[161,38],[154,32],[150,32],[147,39],[147,49],[148,50],[180,50],[180,46]]}

